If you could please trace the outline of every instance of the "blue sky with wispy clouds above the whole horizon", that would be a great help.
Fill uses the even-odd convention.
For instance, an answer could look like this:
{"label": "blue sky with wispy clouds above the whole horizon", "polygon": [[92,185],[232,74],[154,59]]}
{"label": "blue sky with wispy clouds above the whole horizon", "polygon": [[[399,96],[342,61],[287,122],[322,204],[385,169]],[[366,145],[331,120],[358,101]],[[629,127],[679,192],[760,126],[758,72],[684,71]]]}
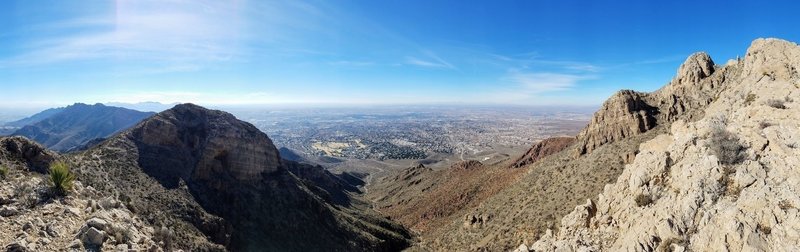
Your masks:
{"label": "blue sky with wispy clouds above the whole horizon", "polygon": [[599,105],[691,53],[800,41],[792,1],[2,1],[0,107]]}

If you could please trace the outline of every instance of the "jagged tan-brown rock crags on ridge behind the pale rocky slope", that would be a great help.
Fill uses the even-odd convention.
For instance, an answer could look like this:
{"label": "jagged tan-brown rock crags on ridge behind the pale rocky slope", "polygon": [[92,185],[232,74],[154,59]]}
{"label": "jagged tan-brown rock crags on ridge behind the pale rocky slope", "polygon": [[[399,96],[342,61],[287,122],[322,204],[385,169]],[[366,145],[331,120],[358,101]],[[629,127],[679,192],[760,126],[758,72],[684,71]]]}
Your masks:
{"label": "jagged tan-brown rock crags on ridge behind the pale rocky slope", "polygon": [[678,68],[675,78],[660,90],[653,93],[617,92],[603,103],[589,125],[578,134],[577,154],[587,154],[601,145],[642,134],[657,125],[668,125],[687,112],[702,112],[702,108],[711,103],[721,90],[719,85],[735,75],[737,69],[724,69],[714,75],[717,71],[708,54],[695,53]]}

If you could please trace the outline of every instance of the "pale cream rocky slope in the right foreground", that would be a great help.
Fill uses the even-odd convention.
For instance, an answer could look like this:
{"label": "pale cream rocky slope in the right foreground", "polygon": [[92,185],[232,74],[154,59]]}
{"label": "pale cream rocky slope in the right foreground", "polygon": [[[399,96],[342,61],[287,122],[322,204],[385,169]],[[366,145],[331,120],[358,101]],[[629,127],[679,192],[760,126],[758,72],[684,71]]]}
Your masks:
{"label": "pale cream rocky slope in the right foreground", "polygon": [[800,249],[798,68],[797,44],[754,41],[743,60],[724,68],[740,75],[724,80],[702,118],[678,121],[642,144],[616,183],[532,247]]}

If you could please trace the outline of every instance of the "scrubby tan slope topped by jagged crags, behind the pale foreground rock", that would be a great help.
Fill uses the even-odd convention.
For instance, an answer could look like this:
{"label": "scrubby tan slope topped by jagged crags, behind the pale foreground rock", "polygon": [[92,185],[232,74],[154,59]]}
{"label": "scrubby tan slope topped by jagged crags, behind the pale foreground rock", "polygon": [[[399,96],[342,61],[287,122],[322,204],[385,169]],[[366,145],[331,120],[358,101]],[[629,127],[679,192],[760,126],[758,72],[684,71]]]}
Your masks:
{"label": "scrubby tan slope topped by jagged crags, behind the pale foreground rock", "polygon": [[517,183],[469,210],[469,216],[490,216],[481,225],[454,221],[421,237],[417,246],[494,251],[535,240],[574,206],[615,182],[641,143],[667,132],[677,120],[703,116],[704,108],[740,73],[738,65],[718,68],[707,54],[695,53],[664,88],[615,93],[575,137],[574,145],[528,165],[528,174]]}

